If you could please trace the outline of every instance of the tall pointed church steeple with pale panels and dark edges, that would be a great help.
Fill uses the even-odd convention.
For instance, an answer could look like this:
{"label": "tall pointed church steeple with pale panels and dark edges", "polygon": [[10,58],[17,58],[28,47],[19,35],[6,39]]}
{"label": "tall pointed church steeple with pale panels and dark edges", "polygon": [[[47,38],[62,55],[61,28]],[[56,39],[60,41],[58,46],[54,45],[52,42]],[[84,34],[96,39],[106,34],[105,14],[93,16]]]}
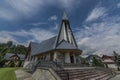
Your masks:
{"label": "tall pointed church steeple with pale panels and dark edges", "polygon": [[55,47],[63,40],[67,41],[69,44],[74,45],[75,47],[78,47],[66,13],[63,14],[63,19],[61,22],[59,34],[57,36]]}

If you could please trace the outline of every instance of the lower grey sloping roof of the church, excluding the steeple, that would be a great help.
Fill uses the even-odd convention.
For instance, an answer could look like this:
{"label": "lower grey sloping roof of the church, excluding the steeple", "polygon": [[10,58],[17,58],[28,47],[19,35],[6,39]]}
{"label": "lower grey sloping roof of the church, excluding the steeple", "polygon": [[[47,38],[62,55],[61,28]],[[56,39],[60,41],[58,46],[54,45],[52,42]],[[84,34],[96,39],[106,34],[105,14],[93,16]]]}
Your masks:
{"label": "lower grey sloping roof of the church, excluding the steeple", "polygon": [[68,43],[67,41],[62,41],[60,44],[54,47],[56,38],[57,38],[56,36],[52,37],[48,40],[41,42],[40,44],[31,42],[31,53],[30,54],[37,55],[37,54],[47,52],[50,50],[54,50],[54,49],[78,49],[76,46]]}

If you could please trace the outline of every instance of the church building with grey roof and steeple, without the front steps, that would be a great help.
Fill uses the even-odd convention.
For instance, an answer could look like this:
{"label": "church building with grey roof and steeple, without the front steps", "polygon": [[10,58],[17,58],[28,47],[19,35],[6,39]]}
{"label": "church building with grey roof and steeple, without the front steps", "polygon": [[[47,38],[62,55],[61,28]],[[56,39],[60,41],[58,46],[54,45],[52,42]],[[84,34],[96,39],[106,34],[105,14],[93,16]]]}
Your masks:
{"label": "church building with grey roof and steeple, without the front steps", "polygon": [[30,42],[26,60],[47,60],[62,64],[77,64],[81,53],[82,50],[78,48],[68,17],[64,13],[58,34],[41,43]]}

